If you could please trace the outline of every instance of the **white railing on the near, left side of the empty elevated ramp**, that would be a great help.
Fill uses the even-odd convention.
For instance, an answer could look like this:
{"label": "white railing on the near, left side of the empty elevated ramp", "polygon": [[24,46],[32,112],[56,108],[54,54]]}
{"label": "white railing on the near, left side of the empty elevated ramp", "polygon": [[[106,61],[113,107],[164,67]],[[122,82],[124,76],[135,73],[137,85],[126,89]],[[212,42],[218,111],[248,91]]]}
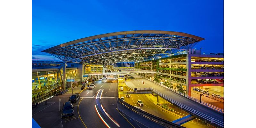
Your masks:
{"label": "white railing on the near, left side of the empty elevated ramp", "polygon": [[176,105],[177,107],[182,108],[183,110],[186,110],[190,114],[193,114],[195,116],[199,116],[199,117],[205,119],[206,121],[211,122],[212,124],[217,124],[220,127],[224,127],[224,123],[223,122],[221,122],[221,121],[219,121],[219,120],[217,120],[215,118],[212,118],[211,116],[207,116],[207,115],[205,115],[205,114],[203,114],[201,112],[198,112],[198,111],[196,111],[196,110],[194,110],[192,108],[189,108],[188,106],[183,105],[183,104],[181,104],[181,103],[179,103],[179,102],[177,102],[177,101],[167,97],[166,95],[164,95],[164,94],[162,94],[160,92],[157,92],[155,89],[153,89],[152,92],[155,92],[158,96],[164,98],[165,100],[167,100],[168,102]]}

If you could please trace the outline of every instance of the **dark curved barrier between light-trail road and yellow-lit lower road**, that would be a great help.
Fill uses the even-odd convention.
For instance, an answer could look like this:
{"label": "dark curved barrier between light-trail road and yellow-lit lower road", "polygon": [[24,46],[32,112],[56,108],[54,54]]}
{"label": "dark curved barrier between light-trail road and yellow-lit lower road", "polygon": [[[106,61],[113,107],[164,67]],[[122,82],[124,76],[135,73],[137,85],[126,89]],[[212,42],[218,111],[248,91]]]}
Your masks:
{"label": "dark curved barrier between light-trail road and yellow-lit lower road", "polygon": [[160,124],[160,125],[162,125],[162,126],[164,126],[164,127],[167,127],[167,128],[185,128],[185,127],[180,126],[180,125],[178,125],[178,124],[169,122],[169,121],[167,121],[167,120],[164,120],[164,119],[162,119],[162,118],[159,118],[159,117],[157,117],[157,116],[154,116],[154,115],[152,115],[152,114],[149,114],[149,113],[147,113],[147,112],[145,112],[145,111],[143,111],[143,110],[141,110],[141,109],[139,109],[139,108],[136,108],[136,107],[134,107],[134,106],[132,106],[132,105],[130,105],[130,104],[124,102],[124,101],[121,100],[120,98],[117,99],[117,103],[120,103],[120,104],[124,105],[124,107],[129,108],[130,110],[136,112],[136,113],[139,114],[140,116],[143,116],[143,117],[145,117],[145,118],[147,118],[147,119],[149,119],[149,120],[151,120],[151,121],[154,121],[154,122],[156,122],[157,124]]}

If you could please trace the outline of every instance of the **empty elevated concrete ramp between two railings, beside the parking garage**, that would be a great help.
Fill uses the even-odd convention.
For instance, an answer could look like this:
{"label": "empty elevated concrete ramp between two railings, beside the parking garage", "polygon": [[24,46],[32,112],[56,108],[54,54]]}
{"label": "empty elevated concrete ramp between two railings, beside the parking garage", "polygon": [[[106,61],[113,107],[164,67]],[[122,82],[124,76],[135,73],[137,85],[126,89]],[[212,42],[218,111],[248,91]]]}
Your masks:
{"label": "empty elevated concrete ramp between two railings, beside the parking garage", "polygon": [[[168,96],[169,98],[176,100],[180,102],[183,105],[186,105],[196,111],[199,111],[205,115],[208,115],[210,117],[213,117],[217,120],[220,120],[221,122],[224,122],[223,114],[212,110],[211,108],[204,107],[203,105],[196,103],[195,101],[189,100],[186,97],[183,97],[175,92],[169,91],[164,87],[161,87],[141,76],[138,76],[136,74],[132,74],[135,79],[128,79],[126,81],[126,84],[129,85],[132,88],[149,88],[152,87],[153,89],[157,90],[158,92]],[[144,84],[142,84],[142,81],[144,81]],[[144,107],[145,108],[145,107]]]}

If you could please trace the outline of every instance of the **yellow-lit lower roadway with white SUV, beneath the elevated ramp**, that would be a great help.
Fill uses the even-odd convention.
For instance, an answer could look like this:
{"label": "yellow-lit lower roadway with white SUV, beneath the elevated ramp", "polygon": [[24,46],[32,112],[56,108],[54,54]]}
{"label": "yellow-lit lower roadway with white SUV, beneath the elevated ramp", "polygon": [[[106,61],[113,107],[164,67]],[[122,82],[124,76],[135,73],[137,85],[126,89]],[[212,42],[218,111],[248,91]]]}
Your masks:
{"label": "yellow-lit lower roadway with white SUV, beneath the elevated ramp", "polygon": [[[120,89],[119,89],[119,91],[120,91]],[[124,92],[128,92],[128,91],[129,91],[128,88],[126,86],[124,86]],[[120,92],[123,92],[123,91],[120,91]],[[160,117],[162,119],[165,119],[167,121],[172,122],[172,121],[180,118],[174,114],[171,114],[167,110],[163,110],[162,108],[155,105],[152,101],[150,101],[146,95],[148,95],[148,97],[150,97],[150,96],[152,96],[152,94],[130,94],[130,95],[131,95],[131,97],[127,98],[126,94],[119,94],[119,98],[121,96],[123,96],[124,101],[129,103],[130,105],[139,107],[143,111],[148,112],[154,116]],[[144,106],[139,106],[137,104],[138,99],[142,100],[142,102],[144,103]],[[205,127],[207,127],[205,125],[197,124],[192,121],[182,124],[181,126],[184,126],[187,128],[205,128]]]}

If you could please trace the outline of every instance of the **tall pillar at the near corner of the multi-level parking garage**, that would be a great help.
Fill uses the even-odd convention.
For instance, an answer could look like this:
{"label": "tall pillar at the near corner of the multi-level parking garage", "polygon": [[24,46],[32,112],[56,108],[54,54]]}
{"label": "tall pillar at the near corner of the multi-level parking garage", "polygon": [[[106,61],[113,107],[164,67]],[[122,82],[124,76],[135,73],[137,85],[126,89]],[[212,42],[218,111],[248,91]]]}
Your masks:
{"label": "tall pillar at the near corner of the multi-level parking garage", "polygon": [[191,54],[187,54],[186,57],[186,68],[187,68],[187,73],[186,73],[186,93],[187,95],[191,96]]}

